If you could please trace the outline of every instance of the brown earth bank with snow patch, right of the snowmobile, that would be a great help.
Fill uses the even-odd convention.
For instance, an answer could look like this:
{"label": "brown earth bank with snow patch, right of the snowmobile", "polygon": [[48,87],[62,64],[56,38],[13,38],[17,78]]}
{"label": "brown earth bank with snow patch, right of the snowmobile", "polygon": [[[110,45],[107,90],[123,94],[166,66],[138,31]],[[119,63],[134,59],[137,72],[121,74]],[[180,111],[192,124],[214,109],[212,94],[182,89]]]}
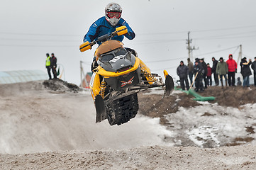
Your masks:
{"label": "brown earth bank with snow patch, right of the snowmobile", "polygon": [[174,91],[162,98],[160,91],[139,95],[140,114],[160,118],[173,135],[165,137],[174,146],[224,147],[255,144],[256,88],[210,86],[199,92],[214,101],[194,101],[194,96]]}

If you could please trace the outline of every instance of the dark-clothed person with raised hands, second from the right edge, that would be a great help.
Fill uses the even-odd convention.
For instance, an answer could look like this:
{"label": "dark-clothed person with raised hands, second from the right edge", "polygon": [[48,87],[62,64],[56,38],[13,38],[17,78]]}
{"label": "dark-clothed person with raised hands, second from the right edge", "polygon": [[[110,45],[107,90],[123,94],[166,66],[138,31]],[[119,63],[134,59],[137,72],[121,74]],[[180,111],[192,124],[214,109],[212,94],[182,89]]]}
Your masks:
{"label": "dark-clothed person with raised hands, second from the right edge", "polygon": [[249,59],[249,62],[247,62],[246,57],[243,57],[242,61],[240,62],[241,66],[241,74],[243,76],[243,86],[250,86],[250,80],[249,77],[252,75],[252,72],[250,71],[250,64],[252,64],[252,60]]}

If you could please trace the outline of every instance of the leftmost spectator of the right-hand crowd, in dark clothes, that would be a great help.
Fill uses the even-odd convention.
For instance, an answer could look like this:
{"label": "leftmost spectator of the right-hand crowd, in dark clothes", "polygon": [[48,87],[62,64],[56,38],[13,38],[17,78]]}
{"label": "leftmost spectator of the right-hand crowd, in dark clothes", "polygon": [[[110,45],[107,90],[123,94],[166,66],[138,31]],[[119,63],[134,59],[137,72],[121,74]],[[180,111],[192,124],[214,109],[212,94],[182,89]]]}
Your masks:
{"label": "leftmost spectator of the right-hand crowd, in dark clothes", "polygon": [[187,74],[189,74],[189,67],[187,67],[187,65],[184,65],[183,61],[180,62],[179,67],[177,68],[177,74],[179,76],[180,86],[182,86],[182,90],[185,90],[184,81],[187,90],[189,90],[189,81],[187,79]]}

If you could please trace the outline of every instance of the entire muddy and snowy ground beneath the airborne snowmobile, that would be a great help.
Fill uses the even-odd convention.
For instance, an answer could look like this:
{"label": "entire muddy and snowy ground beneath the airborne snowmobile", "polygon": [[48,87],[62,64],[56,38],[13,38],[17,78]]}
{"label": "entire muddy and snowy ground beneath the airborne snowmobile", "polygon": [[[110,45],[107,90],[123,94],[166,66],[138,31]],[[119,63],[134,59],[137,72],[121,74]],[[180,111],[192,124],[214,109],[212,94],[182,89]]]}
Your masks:
{"label": "entire muddy and snowy ground beneath the airborne snowmobile", "polygon": [[74,84],[0,85],[0,169],[255,169],[255,90],[144,91],[138,115],[110,126]]}

